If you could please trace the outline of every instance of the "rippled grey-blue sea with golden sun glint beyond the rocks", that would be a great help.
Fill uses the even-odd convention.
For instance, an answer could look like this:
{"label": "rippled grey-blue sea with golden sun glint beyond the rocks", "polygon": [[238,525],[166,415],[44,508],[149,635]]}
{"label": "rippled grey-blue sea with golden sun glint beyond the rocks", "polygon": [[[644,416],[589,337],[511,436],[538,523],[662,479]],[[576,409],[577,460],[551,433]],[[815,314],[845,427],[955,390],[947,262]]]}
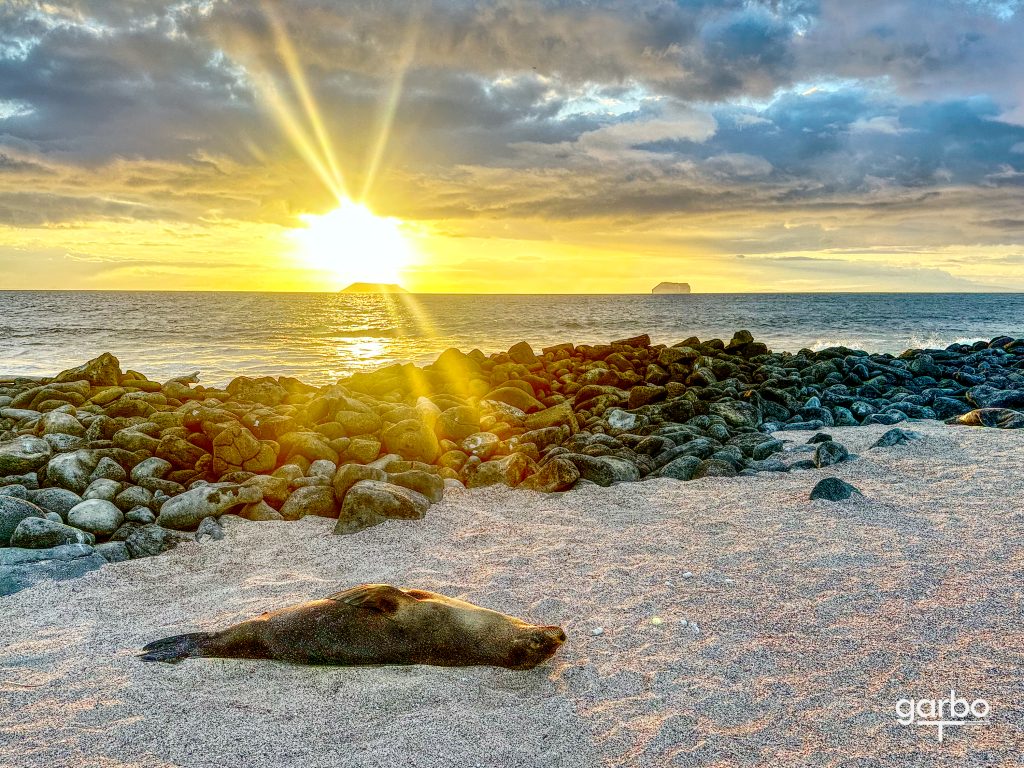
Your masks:
{"label": "rippled grey-blue sea with golden sun glint beyond the rocks", "polygon": [[774,350],[843,344],[872,352],[1024,336],[1024,294],[690,294],[402,296],[0,291],[0,376],[52,376],[104,351],[164,380],[194,371],[313,384],[447,347],[484,352],[526,340],[606,342],[648,333]]}

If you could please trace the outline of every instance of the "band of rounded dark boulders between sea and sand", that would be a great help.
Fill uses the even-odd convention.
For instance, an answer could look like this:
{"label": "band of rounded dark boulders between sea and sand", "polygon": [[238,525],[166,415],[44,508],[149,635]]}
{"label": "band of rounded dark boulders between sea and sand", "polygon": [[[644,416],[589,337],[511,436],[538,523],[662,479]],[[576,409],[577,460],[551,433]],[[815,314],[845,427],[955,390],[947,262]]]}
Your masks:
{"label": "band of rounded dark boulders between sea and sand", "polygon": [[[540,353],[443,352],[313,387],[154,382],[111,354],[0,380],[0,594],[220,538],[218,519],[336,518],[352,534],[422,518],[446,486],[820,469],[849,460],[791,430],[943,419],[1024,426],[1024,340],[887,354],[770,352],[750,333],[647,336]],[[778,435],[778,436],[775,436]],[[907,438],[893,430],[883,442]],[[816,498],[853,489],[823,487]]]}

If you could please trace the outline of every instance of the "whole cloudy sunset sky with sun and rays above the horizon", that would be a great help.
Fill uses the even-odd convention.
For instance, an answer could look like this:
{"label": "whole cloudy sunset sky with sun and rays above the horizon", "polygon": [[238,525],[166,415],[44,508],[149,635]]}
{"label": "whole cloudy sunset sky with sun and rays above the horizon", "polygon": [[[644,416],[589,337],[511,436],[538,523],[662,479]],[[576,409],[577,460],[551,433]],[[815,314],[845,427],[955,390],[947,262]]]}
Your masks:
{"label": "whole cloudy sunset sky with sun and rays above the horizon", "polygon": [[1021,291],[1022,40],[1024,0],[0,0],[0,289]]}

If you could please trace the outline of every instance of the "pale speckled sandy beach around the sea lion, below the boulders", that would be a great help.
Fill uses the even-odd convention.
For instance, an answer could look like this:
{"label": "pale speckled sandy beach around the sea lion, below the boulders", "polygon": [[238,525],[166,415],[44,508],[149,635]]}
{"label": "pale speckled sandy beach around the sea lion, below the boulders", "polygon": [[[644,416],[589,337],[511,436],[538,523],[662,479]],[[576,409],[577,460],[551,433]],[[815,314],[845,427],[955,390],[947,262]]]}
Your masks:
{"label": "pale speckled sandy beach around the sea lion, below the boulders", "polygon": [[[0,600],[0,764],[1016,764],[1024,433],[908,426],[887,449],[886,426],[830,429],[859,458],[824,473],[450,490],[352,537],[224,518],[223,541],[37,585]],[[863,498],[808,501],[825,475]],[[569,640],[527,673],[134,655],[360,582]],[[897,723],[898,699],[950,687],[991,723],[941,744]]]}

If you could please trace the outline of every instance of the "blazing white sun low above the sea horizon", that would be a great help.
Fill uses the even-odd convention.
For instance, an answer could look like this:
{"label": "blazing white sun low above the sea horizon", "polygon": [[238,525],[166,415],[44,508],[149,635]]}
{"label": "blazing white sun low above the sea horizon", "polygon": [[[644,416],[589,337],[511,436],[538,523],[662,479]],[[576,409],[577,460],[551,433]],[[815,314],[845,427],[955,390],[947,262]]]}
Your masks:
{"label": "blazing white sun low above the sea horizon", "polygon": [[395,218],[377,216],[350,200],[328,213],[303,214],[291,234],[303,260],[333,272],[339,282],[397,283],[413,247]]}

